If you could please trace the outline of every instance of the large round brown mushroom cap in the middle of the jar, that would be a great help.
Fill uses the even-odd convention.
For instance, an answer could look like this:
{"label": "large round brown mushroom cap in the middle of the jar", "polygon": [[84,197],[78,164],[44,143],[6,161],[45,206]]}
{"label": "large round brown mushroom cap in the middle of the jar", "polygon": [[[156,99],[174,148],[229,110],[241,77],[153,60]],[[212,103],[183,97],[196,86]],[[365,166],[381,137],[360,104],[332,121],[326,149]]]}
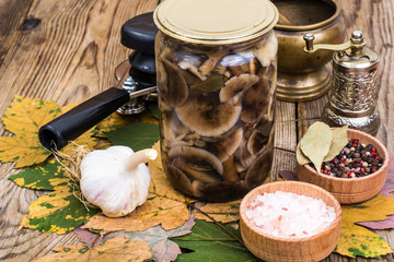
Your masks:
{"label": "large round brown mushroom cap in the middle of the jar", "polygon": [[217,93],[190,95],[175,111],[179,120],[200,135],[215,136],[230,130],[239,120],[241,106],[220,103]]}

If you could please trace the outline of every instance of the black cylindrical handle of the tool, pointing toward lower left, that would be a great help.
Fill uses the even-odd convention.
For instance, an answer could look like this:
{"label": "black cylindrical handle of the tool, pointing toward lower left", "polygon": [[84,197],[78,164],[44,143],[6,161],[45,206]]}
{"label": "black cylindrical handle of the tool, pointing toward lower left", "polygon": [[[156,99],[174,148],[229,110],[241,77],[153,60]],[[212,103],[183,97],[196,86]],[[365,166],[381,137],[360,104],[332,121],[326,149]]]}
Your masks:
{"label": "black cylindrical handle of the tool, pointing toward lower left", "polygon": [[39,141],[49,151],[60,150],[127,102],[127,91],[112,87],[44,124]]}

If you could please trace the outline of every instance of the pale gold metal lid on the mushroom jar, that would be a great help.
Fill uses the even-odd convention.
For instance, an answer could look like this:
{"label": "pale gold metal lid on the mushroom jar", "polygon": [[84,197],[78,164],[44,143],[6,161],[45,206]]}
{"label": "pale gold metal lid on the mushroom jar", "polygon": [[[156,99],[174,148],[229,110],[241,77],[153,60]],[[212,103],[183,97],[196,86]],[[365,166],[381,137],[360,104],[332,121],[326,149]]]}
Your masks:
{"label": "pale gold metal lid on the mushroom jar", "polygon": [[277,8],[268,0],[166,0],[153,14],[166,35],[204,45],[256,38],[274,28],[278,19]]}

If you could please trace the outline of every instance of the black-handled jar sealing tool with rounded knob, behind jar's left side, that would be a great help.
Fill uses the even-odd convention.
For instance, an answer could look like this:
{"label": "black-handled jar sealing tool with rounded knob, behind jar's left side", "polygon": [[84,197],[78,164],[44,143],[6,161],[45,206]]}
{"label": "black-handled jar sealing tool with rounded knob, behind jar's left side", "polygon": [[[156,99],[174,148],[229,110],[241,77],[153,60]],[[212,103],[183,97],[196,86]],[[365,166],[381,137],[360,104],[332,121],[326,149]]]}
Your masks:
{"label": "black-handled jar sealing tool with rounded knob, behind jar's left side", "polygon": [[119,81],[117,87],[106,90],[44,124],[38,138],[47,150],[60,150],[114,111],[132,115],[144,110],[143,99],[157,97],[157,33],[152,12],[137,15],[121,26],[120,43],[134,51],[128,62],[121,63],[115,72]]}

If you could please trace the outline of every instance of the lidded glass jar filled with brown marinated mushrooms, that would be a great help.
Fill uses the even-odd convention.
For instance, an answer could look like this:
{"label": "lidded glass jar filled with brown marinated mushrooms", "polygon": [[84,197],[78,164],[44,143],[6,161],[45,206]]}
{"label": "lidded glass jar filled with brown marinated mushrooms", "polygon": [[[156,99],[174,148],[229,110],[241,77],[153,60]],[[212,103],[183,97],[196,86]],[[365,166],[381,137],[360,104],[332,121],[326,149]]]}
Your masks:
{"label": "lidded glass jar filled with brown marinated mushrooms", "polygon": [[157,8],[161,156],[184,194],[230,201],[268,176],[278,17],[268,0],[165,0]]}

